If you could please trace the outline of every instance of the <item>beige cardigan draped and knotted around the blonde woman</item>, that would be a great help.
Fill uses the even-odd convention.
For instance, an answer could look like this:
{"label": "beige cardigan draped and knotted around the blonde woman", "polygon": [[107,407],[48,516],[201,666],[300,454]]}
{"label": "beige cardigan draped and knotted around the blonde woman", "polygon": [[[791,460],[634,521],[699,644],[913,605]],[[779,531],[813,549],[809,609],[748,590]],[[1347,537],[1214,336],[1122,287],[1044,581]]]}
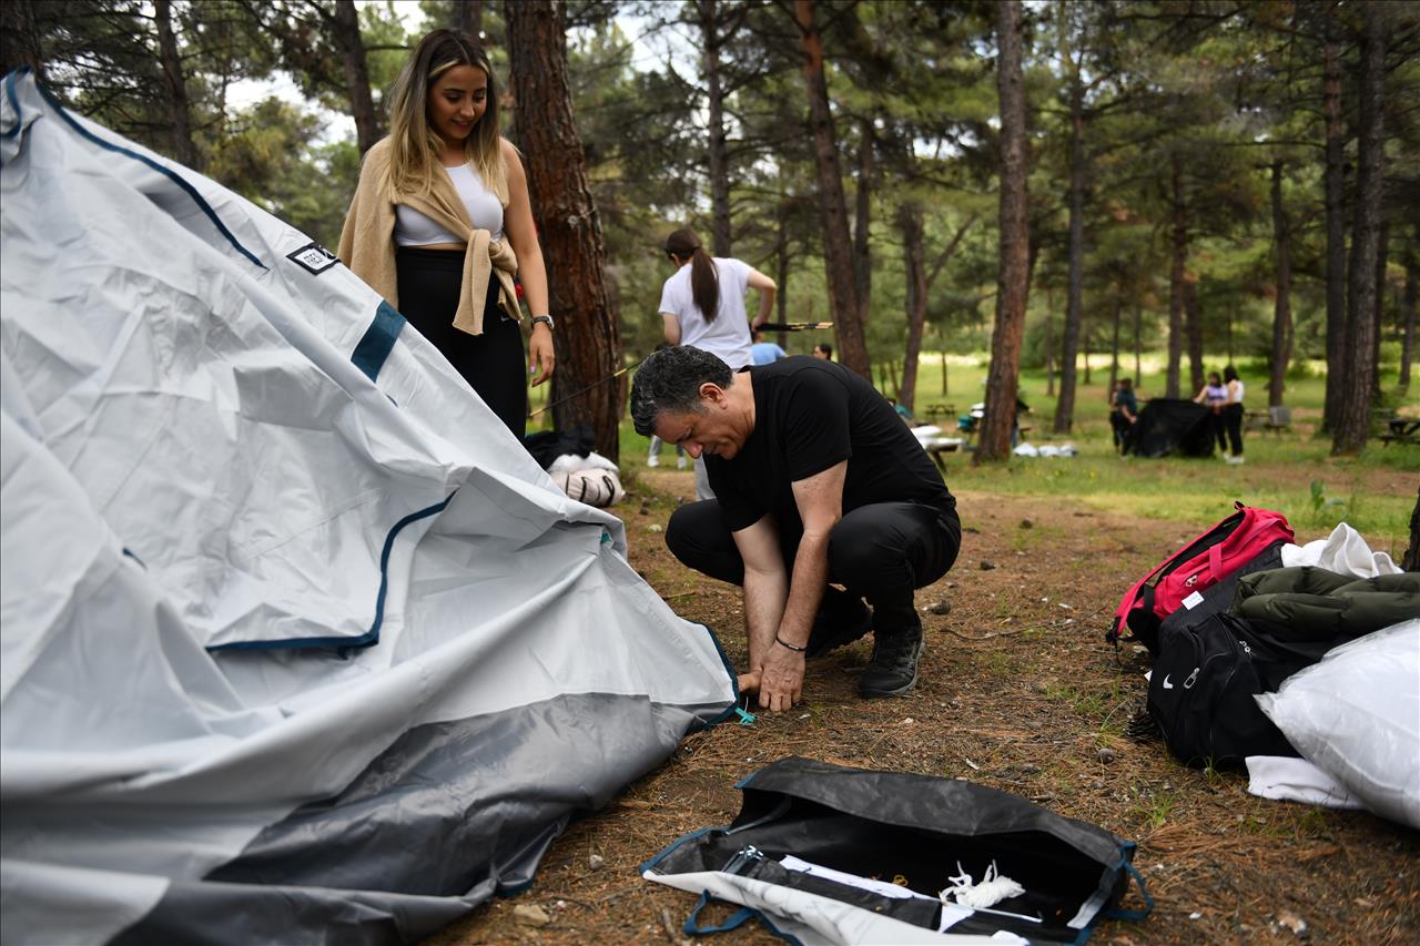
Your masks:
{"label": "beige cardigan draped and knotted around the blonde woman", "polygon": [[463,254],[463,284],[453,325],[470,335],[483,334],[483,303],[488,280],[497,276],[498,305],[514,318],[518,308],[513,274],[518,260],[507,240],[494,240],[487,230],[474,230],[449,175],[433,175],[427,195],[396,193],[389,175],[389,139],[365,153],[359,185],[341,230],[341,261],[376,293],[399,308],[399,274],[395,267],[395,205],[403,203],[425,214],[467,244]]}

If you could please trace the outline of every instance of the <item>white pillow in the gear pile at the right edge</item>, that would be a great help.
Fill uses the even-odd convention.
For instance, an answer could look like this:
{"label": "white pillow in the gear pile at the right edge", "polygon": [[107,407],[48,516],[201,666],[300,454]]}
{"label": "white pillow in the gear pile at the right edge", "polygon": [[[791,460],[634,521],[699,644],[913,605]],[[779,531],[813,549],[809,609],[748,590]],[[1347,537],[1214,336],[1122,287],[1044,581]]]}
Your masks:
{"label": "white pillow in the gear pile at the right edge", "polygon": [[1420,619],[1343,643],[1255,699],[1370,811],[1420,828]]}

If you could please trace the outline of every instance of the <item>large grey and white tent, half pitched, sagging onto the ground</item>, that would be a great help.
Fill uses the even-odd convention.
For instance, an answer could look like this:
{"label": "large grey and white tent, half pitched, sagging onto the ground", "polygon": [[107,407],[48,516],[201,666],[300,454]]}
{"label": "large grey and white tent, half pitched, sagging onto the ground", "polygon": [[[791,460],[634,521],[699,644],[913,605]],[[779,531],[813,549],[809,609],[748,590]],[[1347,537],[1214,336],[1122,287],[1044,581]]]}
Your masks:
{"label": "large grey and white tent, half pitched, sagging onto the ground", "polygon": [[307,236],[0,89],[0,940],[398,942],[733,710]]}

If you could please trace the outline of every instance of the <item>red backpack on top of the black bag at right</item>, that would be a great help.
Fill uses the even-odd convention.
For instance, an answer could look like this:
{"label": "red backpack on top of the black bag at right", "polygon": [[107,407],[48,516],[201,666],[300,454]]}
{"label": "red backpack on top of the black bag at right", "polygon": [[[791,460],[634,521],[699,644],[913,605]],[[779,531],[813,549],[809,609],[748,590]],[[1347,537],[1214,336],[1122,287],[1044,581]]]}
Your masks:
{"label": "red backpack on top of the black bag at right", "polygon": [[[1115,645],[1122,639],[1140,641],[1150,653],[1159,653],[1159,625],[1164,618],[1184,607],[1193,595],[1201,598],[1206,588],[1218,584],[1274,543],[1292,541],[1292,527],[1281,513],[1242,503],[1234,503],[1234,507],[1235,513],[1164,558],[1129,589],[1115,611],[1106,641]],[[1122,636],[1125,625],[1133,636]]]}

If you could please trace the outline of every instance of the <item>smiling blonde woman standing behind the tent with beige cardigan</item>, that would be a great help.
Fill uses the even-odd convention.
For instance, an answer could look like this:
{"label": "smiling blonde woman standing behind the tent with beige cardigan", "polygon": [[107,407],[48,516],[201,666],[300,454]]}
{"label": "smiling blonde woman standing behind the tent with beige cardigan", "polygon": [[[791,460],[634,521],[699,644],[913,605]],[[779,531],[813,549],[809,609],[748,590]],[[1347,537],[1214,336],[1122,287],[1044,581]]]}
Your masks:
{"label": "smiling blonde woman standing behind the tent with beige cardigan", "polygon": [[[341,260],[449,359],[518,437],[527,375],[552,374],[547,270],[517,149],[498,134],[483,48],[435,30],[390,92],[389,136],[365,155]],[[527,371],[523,312],[532,311]]]}

